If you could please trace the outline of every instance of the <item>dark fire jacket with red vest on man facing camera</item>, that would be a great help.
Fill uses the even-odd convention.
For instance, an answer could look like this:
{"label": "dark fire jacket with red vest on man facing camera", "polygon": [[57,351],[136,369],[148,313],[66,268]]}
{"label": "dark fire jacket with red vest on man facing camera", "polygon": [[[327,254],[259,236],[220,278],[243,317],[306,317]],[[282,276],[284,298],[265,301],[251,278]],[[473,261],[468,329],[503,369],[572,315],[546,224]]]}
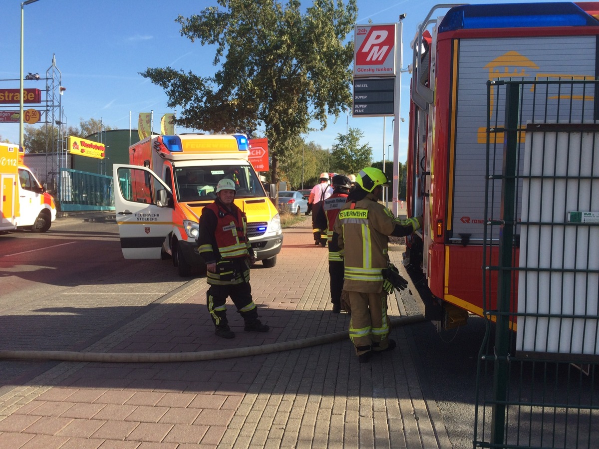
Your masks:
{"label": "dark fire jacket with red vest on man facing camera", "polygon": [[[208,284],[238,284],[249,281],[246,215],[235,204],[231,211],[218,200],[202,210],[199,220],[198,252],[204,262],[217,264],[217,273],[207,272]],[[227,262],[228,261],[228,262]],[[220,270],[226,266],[226,270]]]}

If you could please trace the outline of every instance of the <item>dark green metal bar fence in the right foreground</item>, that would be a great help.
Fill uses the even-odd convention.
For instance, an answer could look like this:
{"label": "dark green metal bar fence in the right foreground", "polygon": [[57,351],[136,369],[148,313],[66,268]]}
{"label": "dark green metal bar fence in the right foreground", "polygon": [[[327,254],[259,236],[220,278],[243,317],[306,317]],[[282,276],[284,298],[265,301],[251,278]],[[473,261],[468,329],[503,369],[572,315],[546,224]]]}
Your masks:
{"label": "dark green metal bar fence in the right foreground", "polygon": [[598,86],[488,83],[474,447],[599,446]]}

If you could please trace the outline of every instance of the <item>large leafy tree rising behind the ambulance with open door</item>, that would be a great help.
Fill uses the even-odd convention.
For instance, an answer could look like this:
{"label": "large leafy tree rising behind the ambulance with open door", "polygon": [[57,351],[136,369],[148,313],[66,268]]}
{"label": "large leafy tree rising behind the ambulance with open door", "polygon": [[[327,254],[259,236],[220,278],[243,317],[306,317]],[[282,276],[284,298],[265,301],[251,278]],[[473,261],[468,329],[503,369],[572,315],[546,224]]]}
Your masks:
{"label": "large leafy tree rising behind the ambulance with open door", "polygon": [[[176,20],[181,35],[216,45],[213,77],[171,67],[140,74],[161,86],[167,106],[181,108],[178,125],[207,132],[264,128],[271,156],[271,180],[279,160],[295,148],[310,122],[326,128],[352,103],[352,31],[358,8],[334,0],[314,0],[305,14],[299,0],[217,0],[200,14]],[[221,61],[223,60],[223,61]]]}

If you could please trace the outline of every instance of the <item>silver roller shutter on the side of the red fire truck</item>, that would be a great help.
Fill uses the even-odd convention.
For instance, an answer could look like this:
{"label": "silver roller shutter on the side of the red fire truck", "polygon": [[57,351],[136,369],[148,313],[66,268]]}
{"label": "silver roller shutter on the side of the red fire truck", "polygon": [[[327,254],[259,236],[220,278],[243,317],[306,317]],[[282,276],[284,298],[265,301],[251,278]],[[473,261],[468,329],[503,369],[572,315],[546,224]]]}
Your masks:
{"label": "silver roller shutter on the side of the red fire truck", "polygon": [[[506,39],[462,39],[459,43],[458,104],[455,133],[455,183],[453,197],[453,238],[459,233],[471,234],[471,241],[483,238],[485,211],[486,144],[480,143],[477,133],[486,129],[487,87],[491,78],[502,79],[552,79],[572,75],[595,75],[595,37],[533,37]],[[502,93],[505,91],[502,90]],[[539,95],[539,98],[541,95]],[[544,100],[544,93],[542,98]],[[497,120],[503,126],[504,96],[494,98],[500,108],[494,107],[491,125]],[[557,100],[555,100],[557,101]],[[591,107],[592,102],[588,102]],[[533,119],[533,92],[524,92],[524,104],[530,105],[522,112],[522,123]],[[497,111],[497,112],[495,112]],[[537,108],[537,121],[543,108]],[[589,116],[590,117],[590,116]],[[551,119],[551,117],[549,117]],[[502,163],[502,145],[494,161]],[[495,210],[489,216],[497,218],[500,190],[495,192]]]}

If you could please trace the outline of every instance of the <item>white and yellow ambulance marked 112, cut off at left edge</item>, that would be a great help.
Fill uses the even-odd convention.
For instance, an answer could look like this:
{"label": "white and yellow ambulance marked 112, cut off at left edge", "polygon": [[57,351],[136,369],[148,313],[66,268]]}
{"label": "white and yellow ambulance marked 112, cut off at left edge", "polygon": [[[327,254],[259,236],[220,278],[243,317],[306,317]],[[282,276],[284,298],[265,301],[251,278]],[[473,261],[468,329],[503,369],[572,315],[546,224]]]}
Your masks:
{"label": "white and yellow ambulance marked 112, cut off at left edge", "polygon": [[23,156],[19,145],[0,143],[0,231],[46,232],[56,219],[54,199],[23,164]]}

